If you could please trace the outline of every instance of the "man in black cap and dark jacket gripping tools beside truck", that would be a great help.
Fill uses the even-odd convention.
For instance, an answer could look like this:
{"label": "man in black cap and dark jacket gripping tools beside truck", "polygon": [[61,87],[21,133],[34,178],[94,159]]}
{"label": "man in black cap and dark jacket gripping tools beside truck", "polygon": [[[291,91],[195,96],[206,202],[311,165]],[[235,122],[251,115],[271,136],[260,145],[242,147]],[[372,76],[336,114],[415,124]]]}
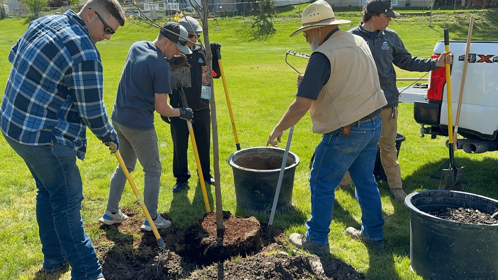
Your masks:
{"label": "man in black cap and dark jacket gripping tools beside truck", "polygon": [[[427,72],[444,67],[445,61],[451,64],[453,55],[444,52],[439,58],[433,59],[412,57],[398,34],[387,28],[391,19],[398,16],[399,13],[392,10],[391,0],[369,0],[363,7],[363,21],[348,32],[367,41],[377,66],[380,88],[387,99],[387,105],[382,109],[380,160],[393,199],[404,201],[406,193],[403,190],[396,149],[399,91],[396,87],[396,72],[393,65],[407,71]],[[445,60],[446,55],[448,57]],[[351,179],[346,174],[338,187],[349,188],[350,184]]]}

